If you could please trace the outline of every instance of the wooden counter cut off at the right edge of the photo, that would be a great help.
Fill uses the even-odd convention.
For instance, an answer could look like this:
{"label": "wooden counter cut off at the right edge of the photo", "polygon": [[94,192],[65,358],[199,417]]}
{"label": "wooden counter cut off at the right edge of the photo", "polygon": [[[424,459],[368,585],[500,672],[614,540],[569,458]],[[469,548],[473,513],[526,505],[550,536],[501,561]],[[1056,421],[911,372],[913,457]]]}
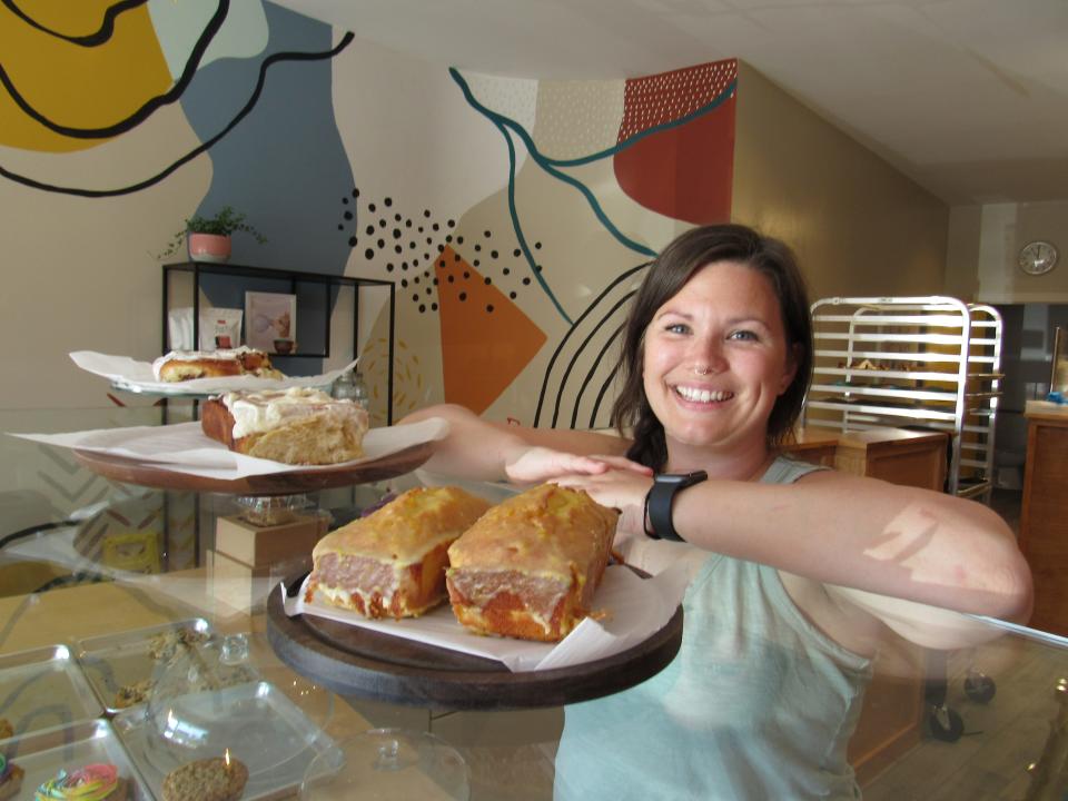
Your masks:
{"label": "wooden counter cut off at the right edge of the photo", "polygon": [[1068,406],[1029,400],[1020,550],[1035,581],[1029,625],[1068,634]]}

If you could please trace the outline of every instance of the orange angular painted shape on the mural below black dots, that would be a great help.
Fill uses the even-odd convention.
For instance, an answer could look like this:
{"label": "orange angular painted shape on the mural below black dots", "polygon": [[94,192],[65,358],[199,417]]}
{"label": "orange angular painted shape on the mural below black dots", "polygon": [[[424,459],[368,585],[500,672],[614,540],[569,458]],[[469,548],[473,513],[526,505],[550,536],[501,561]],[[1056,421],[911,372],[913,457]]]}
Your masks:
{"label": "orange angular painted shape on the mural below black dots", "polygon": [[446,247],[434,260],[445,400],[485,412],[546,336],[486,277]]}

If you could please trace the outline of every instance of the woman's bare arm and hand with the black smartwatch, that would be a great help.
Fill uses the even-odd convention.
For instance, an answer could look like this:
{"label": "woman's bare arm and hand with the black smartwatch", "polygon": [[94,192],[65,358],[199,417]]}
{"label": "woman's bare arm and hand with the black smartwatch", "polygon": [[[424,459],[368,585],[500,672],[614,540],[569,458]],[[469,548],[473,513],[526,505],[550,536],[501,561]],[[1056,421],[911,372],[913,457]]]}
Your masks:
{"label": "woman's bare arm and hand with the black smartwatch", "polygon": [[[641,531],[647,478],[561,483]],[[975,501],[827,471],[788,485],[703,482],[676,495],[672,520],[692,545],[822,584],[1017,622],[1030,613],[1030,571],[1012,532]]]}

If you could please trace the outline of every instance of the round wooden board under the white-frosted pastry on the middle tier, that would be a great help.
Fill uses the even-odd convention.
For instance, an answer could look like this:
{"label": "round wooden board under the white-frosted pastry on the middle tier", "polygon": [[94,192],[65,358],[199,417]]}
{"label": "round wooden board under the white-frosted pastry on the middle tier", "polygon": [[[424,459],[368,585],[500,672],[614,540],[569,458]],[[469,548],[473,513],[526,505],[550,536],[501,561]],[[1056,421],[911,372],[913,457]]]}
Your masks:
{"label": "round wooden board under the white-frosted pastry on the middle tier", "polygon": [[93,473],[126,484],[185,492],[293,495],[353,484],[367,484],[409,473],[431,457],[435,444],[434,442],[418,443],[379,458],[342,464],[336,467],[298,468],[285,473],[266,473],[233,479],[180,473],[167,469],[166,463],[162,462],[141,462],[95,451],[75,448],[75,457]]}

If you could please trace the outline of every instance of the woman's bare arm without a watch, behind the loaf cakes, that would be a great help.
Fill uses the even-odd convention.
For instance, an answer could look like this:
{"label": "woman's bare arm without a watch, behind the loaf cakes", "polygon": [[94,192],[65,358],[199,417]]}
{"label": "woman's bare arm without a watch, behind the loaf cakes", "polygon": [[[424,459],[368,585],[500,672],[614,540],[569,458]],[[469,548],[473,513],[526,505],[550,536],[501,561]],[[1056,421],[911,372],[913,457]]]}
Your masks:
{"label": "woman's bare arm without a watch, behind the loaf cakes", "polygon": [[521,483],[566,474],[604,473],[612,467],[652,474],[624,457],[629,441],[609,434],[492,423],[456,404],[428,406],[400,423],[428,417],[443,417],[449,424],[448,435],[426,463],[426,468],[435,473]]}

